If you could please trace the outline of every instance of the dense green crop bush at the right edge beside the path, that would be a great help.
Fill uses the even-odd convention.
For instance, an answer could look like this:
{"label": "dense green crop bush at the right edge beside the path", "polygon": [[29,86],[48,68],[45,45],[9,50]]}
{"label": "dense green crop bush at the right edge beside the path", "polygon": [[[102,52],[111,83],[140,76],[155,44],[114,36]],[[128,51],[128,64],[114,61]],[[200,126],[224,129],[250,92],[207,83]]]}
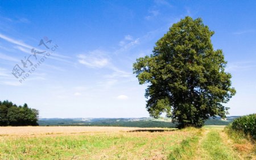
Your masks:
{"label": "dense green crop bush at the right edge beside the path", "polygon": [[256,140],[256,114],[241,116],[235,119],[231,126],[233,130],[243,132]]}

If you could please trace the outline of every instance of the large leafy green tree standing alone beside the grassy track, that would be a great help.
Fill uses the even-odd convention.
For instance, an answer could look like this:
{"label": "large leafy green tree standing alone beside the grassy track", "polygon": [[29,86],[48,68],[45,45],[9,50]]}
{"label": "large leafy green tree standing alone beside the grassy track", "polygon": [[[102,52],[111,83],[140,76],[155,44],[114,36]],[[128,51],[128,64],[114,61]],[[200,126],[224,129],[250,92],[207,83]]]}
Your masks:
{"label": "large leafy green tree standing alone beside the grassy track", "polygon": [[148,84],[151,116],[166,113],[179,128],[202,127],[211,116],[226,116],[224,103],[236,90],[222,50],[213,49],[213,34],[200,18],[187,16],[156,42],[150,56],[137,59],[134,73],[139,84]]}

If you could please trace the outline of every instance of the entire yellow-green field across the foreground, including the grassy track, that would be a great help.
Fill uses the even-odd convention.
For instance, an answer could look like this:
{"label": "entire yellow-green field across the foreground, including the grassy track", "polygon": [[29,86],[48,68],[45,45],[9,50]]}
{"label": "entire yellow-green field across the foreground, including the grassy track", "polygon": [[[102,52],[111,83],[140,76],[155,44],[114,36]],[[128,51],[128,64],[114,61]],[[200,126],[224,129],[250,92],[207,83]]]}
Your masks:
{"label": "entire yellow-green field across the foreground, including the grassy track", "polygon": [[[0,159],[253,159],[223,127],[0,127]],[[241,144],[240,144],[241,147]],[[248,148],[249,147],[249,148]],[[239,149],[239,148],[238,148]],[[244,149],[244,148],[243,148]]]}

